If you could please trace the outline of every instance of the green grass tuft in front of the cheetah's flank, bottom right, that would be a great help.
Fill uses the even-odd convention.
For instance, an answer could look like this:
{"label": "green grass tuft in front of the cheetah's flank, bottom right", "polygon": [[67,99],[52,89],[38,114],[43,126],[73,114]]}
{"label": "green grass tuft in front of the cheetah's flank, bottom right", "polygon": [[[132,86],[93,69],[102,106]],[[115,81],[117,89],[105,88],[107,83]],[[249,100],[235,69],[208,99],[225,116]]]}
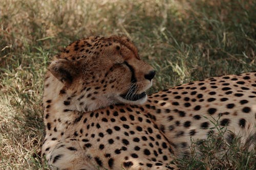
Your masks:
{"label": "green grass tuft in front of the cheetah's flank, bottom right", "polygon": [[232,132],[220,126],[219,120],[214,119],[210,122],[214,124],[211,130],[219,132],[218,135],[209,135],[206,140],[191,139],[191,155],[177,159],[180,167],[182,169],[255,169],[256,163],[253,161],[256,158],[255,152],[248,152],[248,145],[242,145],[240,137],[232,136]]}

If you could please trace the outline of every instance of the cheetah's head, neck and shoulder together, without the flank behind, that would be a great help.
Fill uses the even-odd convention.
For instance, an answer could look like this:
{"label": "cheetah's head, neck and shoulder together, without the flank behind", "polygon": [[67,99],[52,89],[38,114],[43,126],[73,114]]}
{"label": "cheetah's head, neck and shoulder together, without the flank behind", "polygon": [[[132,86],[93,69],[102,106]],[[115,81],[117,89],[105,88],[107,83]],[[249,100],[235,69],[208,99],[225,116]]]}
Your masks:
{"label": "cheetah's head, neck and shoulder together, without the flank behind", "polygon": [[178,169],[172,142],[135,105],[146,101],[154,75],[126,37],[81,39],[57,55],[43,96],[50,167]]}

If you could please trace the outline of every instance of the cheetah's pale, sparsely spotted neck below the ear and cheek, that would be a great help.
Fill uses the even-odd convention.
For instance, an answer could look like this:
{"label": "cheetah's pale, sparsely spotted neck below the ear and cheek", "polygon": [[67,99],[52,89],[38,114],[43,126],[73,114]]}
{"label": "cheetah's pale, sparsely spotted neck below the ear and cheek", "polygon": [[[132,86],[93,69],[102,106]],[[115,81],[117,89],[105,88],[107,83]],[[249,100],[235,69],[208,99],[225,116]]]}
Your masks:
{"label": "cheetah's pale, sparsely spotted neck below the ear and cheek", "polygon": [[[73,122],[82,112],[93,111],[114,104],[110,96],[100,96],[97,100],[87,100],[91,94],[90,87],[77,92],[66,89],[50,72],[46,74],[45,91],[43,96],[45,122],[47,119],[60,122]],[[79,113],[80,112],[80,113]],[[63,116],[65,115],[65,116]]]}

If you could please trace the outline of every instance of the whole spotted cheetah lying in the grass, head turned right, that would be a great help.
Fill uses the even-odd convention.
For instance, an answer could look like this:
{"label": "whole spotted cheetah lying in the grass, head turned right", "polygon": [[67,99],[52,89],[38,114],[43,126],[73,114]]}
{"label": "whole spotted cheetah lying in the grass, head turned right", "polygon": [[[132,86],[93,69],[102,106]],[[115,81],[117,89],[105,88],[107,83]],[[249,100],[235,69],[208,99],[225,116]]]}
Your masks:
{"label": "whole spotted cheetah lying in the grass, head turned right", "polygon": [[[256,72],[148,95],[155,70],[126,37],[71,43],[45,78],[42,156],[58,169],[178,169],[191,138],[241,136],[255,147]],[[232,117],[231,117],[232,116]]]}

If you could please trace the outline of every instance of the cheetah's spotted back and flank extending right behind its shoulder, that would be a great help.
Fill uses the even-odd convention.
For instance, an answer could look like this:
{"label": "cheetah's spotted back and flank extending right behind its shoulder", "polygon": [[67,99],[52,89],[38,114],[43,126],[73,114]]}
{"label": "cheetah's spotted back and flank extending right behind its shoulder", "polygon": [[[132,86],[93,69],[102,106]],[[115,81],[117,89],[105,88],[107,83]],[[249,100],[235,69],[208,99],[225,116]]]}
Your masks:
{"label": "cheetah's spotted back and flank extending right behind its shoulder", "polygon": [[[244,149],[256,145],[256,71],[208,78],[164,89],[141,106],[178,155],[190,154],[193,142],[224,133]],[[192,140],[191,140],[192,139]]]}

